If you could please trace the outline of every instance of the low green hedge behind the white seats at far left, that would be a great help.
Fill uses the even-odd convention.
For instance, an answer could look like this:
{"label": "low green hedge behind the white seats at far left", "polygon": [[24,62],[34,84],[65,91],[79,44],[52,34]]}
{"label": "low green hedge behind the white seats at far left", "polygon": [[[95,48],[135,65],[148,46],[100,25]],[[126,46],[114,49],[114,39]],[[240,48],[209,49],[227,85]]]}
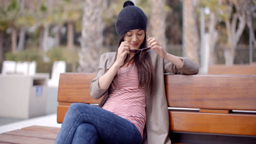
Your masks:
{"label": "low green hedge behind the white seats at far left", "polygon": [[25,51],[12,53],[5,53],[5,60],[7,61],[43,61],[42,52],[38,52],[36,49],[26,49]]}

